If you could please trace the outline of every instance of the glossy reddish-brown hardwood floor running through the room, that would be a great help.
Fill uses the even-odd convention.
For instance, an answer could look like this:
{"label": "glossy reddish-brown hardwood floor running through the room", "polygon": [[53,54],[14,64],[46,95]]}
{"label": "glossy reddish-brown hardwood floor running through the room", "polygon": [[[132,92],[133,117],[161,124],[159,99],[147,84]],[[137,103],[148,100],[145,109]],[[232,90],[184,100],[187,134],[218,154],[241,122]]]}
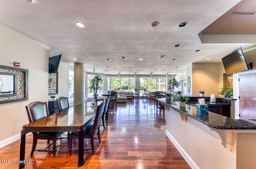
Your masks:
{"label": "glossy reddish-brown hardwood floor running through the room", "polygon": [[[91,150],[85,151],[82,167],[77,166],[77,152],[69,155],[67,139],[56,142],[56,156],[35,151],[30,157],[32,134],[29,134],[26,137],[25,169],[190,169],[166,137],[165,130],[165,112],[154,111],[154,101],[134,99],[134,102],[117,103],[117,111],[111,109],[109,112],[106,129],[100,126],[102,142],[94,139],[95,155]],[[77,140],[73,141],[74,149],[77,143]],[[45,147],[47,141],[38,140],[36,149]],[[20,140],[0,148],[0,169],[18,169],[18,164],[12,161],[19,160],[19,154]]]}

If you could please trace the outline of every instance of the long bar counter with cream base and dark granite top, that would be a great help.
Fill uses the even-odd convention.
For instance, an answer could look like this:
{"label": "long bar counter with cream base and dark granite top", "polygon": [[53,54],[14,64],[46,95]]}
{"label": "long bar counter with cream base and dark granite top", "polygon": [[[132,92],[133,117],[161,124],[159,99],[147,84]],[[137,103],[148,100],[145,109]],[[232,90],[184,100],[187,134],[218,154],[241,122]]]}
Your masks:
{"label": "long bar counter with cream base and dark granite top", "polygon": [[166,102],[166,136],[192,169],[254,169],[256,121],[238,120]]}

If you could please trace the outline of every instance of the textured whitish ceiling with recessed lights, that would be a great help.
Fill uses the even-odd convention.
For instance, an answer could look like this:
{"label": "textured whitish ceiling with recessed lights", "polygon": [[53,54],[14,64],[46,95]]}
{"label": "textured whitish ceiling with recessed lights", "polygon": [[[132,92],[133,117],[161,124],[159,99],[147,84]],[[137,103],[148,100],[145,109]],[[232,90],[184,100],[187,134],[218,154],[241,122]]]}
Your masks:
{"label": "textured whitish ceiling with recessed lights", "polygon": [[[256,14],[242,17],[253,20],[250,33],[246,25],[240,25],[239,29],[228,25],[224,29],[223,25],[213,23],[210,27],[238,2],[240,0],[37,0],[30,4],[26,0],[8,0],[0,1],[0,24],[48,46],[49,57],[62,54],[64,64],[73,66],[76,58],[76,62],[85,65],[86,72],[93,72],[95,68],[95,73],[113,75],[178,74],[186,71],[187,64],[218,63],[236,48],[245,50],[255,46],[256,38],[247,44],[248,38],[242,42],[228,41],[220,35],[255,34]],[[222,16],[225,20],[232,15],[232,22],[236,21],[238,26],[236,16],[240,15],[225,15]],[[78,28],[77,21],[84,23],[85,28]],[[159,26],[151,28],[155,21]],[[181,22],[188,24],[179,27]],[[213,35],[218,37],[212,38]],[[176,44],[180,46],[174,47]],[[161,55],[165,57],[160,59]]]}

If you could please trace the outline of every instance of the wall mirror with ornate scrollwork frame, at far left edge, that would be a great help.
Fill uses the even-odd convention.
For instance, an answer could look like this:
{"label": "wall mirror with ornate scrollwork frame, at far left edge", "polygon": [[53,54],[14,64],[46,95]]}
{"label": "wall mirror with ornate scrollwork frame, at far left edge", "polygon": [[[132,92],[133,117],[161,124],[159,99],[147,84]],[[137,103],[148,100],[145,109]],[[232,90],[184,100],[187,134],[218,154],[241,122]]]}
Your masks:
{"label": "wall mirror with ornate scrollwork frame, at far left edge", "polygon": [[28,100],[28,70],[0,66],[0,104]]}

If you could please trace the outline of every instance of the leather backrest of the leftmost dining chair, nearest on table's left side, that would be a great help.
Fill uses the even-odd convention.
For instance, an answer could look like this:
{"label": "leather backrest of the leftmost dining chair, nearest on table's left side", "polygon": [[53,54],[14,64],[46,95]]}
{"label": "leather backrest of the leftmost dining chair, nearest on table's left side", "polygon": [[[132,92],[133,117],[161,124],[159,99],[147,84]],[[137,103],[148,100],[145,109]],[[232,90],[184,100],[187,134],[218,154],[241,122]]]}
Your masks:
{"label": "leather backrest of the leftmost dining chair, nearest on table's left side", "polygon": [[47,102],[35,101],[26,106],[29,122],[33,122],[49,115]]}

